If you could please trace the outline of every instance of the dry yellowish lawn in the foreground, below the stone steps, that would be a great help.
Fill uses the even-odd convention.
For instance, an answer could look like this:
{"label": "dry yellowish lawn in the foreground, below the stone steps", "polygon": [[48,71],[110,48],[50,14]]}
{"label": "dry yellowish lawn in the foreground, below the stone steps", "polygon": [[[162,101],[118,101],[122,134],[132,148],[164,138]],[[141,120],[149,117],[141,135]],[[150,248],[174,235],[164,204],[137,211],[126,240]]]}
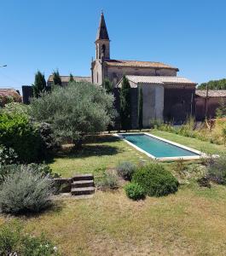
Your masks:
{"label": "dry yellowish lawn in the foreground, below the stone steps", "polygon": [[97,192],[90,200],[60,199],[61,211],[23,221],[27,231],[47,232],[63,255],[221,255],[225,193],[223,186],[195,183],[145,201],[130,201],[122,189]]}

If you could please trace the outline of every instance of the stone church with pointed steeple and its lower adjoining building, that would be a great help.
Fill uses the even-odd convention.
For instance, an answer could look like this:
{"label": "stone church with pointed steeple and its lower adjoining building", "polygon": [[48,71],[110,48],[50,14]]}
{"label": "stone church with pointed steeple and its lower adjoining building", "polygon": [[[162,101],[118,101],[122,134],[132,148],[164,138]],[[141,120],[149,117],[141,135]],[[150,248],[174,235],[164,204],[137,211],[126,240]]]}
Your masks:
{"label": "stone church with pointed steeple and its lower adjoining building", "polygon": [[[154,61],[113,60],[110,56],[110,39],[103,13],[96,34],[96,59],[91,63],[93,84],[102,84],[109,79],[120,90],[123,76],[130,82],[131,88],[131,124],[138,125],[137,98],[142,88],[142,123],[150,125],[151,119],[183,122],[194,113],[194,95],[196,83],[177,77],[179,69],[165,63]],[[119,97],[119,93],[115,93]],[[116,102],[117,101],[116,99]]]}

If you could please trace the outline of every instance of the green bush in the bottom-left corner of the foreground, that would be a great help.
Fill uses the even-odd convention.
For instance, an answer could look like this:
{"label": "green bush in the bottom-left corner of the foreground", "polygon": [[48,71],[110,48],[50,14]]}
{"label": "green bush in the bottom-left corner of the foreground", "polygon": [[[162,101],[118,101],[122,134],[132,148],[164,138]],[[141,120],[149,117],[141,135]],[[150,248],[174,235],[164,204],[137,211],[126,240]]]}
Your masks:
{"label": "green bush in the bottom-left corner of the foreground", "polygon": [[44,235],[24,234],[18,222],[9,222],[0,227],[0,255],[50,256],[60,255],[57,247]]}

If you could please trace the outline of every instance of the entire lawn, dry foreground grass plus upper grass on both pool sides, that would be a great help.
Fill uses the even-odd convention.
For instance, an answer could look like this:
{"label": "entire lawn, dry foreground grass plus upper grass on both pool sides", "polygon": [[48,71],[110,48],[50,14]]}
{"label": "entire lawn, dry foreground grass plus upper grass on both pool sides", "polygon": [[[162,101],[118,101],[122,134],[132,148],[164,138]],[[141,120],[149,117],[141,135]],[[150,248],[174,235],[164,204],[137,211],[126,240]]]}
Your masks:
{"label": "entire lawn, dry foreground grass plus upper grass on both pool sides", "polygon": [[[212,154],[223,146],[164,131],[156,136]],[[138,163],[148,157],[117,137],[101,136],[81,151],[61,152],[49,165],[63,177]],[[166,164],[167,165],[167,164]],[[93,198],[55,196],[55,207],[36,216],[20,217],[25,229],[45,232],[63,255],[223,255],[226,251],[226,187],[181,185],[175,195],[130,201],[124,190],[97,191]],[[0,224],[10,216],[0,215]]]}

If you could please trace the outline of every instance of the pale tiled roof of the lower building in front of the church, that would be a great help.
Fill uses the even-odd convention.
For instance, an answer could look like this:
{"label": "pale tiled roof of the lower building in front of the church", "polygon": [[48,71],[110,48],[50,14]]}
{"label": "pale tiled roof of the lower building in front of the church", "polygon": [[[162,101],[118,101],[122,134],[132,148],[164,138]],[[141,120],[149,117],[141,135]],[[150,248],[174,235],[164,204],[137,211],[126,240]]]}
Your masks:
{"label": "pale tiled roof of the lower building in front of the church", "polygon": [[[132,76],[127,75],[126,78],[133,82],[134,84],[130,84],[131,87],[136,88],[137,84],[190,84],[195,85],[196,83],[192,82],[189,79],[185,79],[182,77],[170,77],[170,76]],[[119,81],[118,86],[120,87],[120,83],[122,80]]]}

